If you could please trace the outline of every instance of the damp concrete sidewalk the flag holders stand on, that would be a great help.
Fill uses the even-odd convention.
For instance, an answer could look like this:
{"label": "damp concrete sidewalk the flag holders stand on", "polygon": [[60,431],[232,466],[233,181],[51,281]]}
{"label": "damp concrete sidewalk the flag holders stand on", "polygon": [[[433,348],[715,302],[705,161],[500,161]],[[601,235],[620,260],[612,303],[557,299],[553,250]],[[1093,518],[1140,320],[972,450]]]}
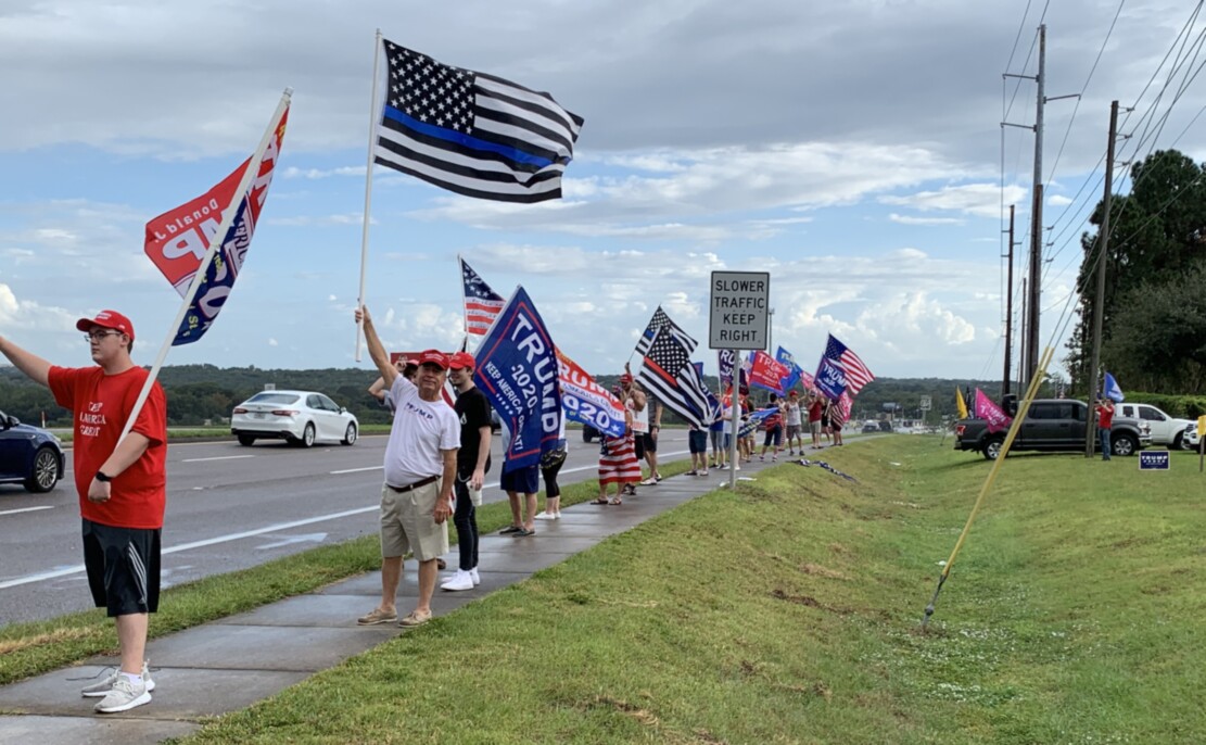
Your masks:
{"label": "damp concrete sidewalk the flag holders stand on", "polygon": [[[753,476],[767,465],[777,464],[755,458],[743,464],[738,476]],[[727,471],[675,476],[656,487],[640,487],[639,496],[625,499],[619,507],[567,507],[562,519],[538,522],[533,537],[482,536],[481,584],[456,593],[437,588],[432,610],[437,616],[452,612],[727,483]],[[453,547],[449,566],[455,564]],[[417,590],[415,564],[406,561],[398,588],[399,615],[414,606]],[[122,714],[98,715],[93,705],[99,699],[78,693],[112,670],[113,657],[2,687],[0,712],[7,716],[0,716],[0,743],[137,745],[187,735],[200,727],[203,717],[245,709],[405,633],[396,624],[356,625],[358,616],[376,606],[380,593],[380,574],[370,572],[152,640],[147,658],[154,698]]]}

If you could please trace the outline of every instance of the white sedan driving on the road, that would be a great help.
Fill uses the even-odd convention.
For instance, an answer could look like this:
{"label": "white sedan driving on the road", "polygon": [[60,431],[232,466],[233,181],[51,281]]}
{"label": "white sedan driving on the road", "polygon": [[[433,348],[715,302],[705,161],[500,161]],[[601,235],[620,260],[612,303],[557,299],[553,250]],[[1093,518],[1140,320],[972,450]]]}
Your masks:
{"label": "white sedan driving on the road", "polygon": [[260,391],[234,407],[230,432],[239,444],[286,440],[309,448],[316,442],[355,444],[361,425],[356,417],[315,391]]}

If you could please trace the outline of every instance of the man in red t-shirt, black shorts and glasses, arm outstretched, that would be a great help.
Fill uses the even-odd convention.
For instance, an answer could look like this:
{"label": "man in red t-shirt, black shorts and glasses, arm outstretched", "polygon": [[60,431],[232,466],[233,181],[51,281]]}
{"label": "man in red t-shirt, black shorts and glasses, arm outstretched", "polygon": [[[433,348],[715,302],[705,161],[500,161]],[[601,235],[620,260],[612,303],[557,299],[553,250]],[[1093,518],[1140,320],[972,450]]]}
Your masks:
{"label": "man in red t-shirt, black shorts and glasses, arm outstretched", "polygon": [[134,365],[134,325],[116,310],[80,319],[94,367],[55,367],[0,337],[0,354],[71,411],[72,467],[83,520],[83,557],[96,607],[116,619],[121,667],[86,687],[112,714],[151,700],[144,659],[148,615],[159,606],[159,540],[166,504],[168,406],[156,383],[134,426],[119,440],[147,371]]}

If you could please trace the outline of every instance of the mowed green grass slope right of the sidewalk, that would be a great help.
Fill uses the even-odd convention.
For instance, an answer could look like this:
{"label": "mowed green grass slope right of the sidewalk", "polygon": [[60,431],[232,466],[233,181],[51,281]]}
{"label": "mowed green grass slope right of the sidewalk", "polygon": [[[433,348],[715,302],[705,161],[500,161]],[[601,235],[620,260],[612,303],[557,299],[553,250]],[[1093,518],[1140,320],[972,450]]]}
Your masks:
{"label": "mowed green grass slope right of the sidewalk", "polygon": [[821,458],[859,481],[763,471],[185,741],[1206,741],[1195,456],[1009,458],[926,633],[990,464]]}

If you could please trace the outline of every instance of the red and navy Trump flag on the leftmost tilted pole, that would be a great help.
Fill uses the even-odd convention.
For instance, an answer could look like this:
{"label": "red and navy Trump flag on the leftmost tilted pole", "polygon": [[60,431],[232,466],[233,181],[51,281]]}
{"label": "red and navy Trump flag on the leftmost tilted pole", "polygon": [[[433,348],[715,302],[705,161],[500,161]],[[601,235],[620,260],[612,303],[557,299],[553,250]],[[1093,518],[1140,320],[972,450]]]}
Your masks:
{"label": "red and navy Trump flag on the leftmost tilted pole", "polygon": [[[216,238],[223,210],[235,199],[239,200],[235,219],[212,261],[205,267],[204,279],[189,301],[185,319],[171,342],[172,347],[200,339],[217,319],[234,289],[234,281],[239,278],[251,248],[259,213],[268,198],[268,187],[273,184],[273,171],[288,117],[286,106],[258,164],[247,158],[210,191],[147,222],[144,250],[176,292],[185,297],[200,270],[210,243]],[[248,168],[256,169],[251,188],[246,194],[236,194],[239,182]]]}

